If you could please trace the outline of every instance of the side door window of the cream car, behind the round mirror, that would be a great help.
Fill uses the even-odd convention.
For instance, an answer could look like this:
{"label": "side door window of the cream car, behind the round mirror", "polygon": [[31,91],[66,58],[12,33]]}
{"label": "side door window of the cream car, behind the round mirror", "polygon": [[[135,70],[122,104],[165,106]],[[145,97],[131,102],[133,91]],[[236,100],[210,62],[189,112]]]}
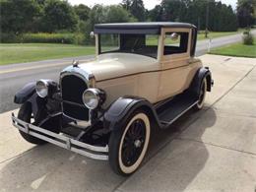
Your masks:
{"label": "side door window of the cream car, behind the round mirror", "polygon": [[164,37],[164,55],[186,53],[188,32],[166,32]]}

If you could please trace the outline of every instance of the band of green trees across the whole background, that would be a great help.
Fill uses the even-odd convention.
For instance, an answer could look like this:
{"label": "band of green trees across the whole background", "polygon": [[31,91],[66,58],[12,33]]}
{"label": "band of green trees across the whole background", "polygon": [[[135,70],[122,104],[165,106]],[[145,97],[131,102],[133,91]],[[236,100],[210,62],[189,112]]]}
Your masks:
{"label": "band of green trees across the whole background", "polygon": [[216,0],[162,0],[147,10],[143,0],[119,5],[72,6],[66,0],[0,0],[1,32],[91,32],[97,23],[187,22],[199,30],[236,31],[255,24],[255,0],[238,0],[232,10]]}

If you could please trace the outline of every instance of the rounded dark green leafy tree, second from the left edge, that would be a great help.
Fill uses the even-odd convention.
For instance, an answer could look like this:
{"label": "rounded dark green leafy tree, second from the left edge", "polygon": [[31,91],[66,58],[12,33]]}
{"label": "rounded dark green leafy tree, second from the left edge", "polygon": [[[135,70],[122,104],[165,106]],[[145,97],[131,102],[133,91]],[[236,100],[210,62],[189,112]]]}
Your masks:
{"label": "rounded dark green leafy tree, second from the left edge", "polygon": [[75,31],[78,17],[73,7],[67,1],[46,0],[41,18],[42,31]]}

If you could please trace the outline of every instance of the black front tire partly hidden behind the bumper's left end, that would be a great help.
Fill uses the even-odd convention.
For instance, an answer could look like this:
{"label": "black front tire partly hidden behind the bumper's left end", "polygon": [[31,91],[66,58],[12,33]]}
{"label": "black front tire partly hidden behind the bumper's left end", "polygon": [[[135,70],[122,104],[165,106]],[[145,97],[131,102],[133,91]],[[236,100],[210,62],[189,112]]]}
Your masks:
{"label": "black front tire partly hidden behind the bumper's left end", "polygon": [[[32,123],[32,104],[30,102],[25,102],[24,104],[22,104],[22,106],[19,110],[19,113],[18,113],[18,118],[27,123]],[[43,140],[40,140],[38,138],[35,138],[35,137],[29,135],[23,131],[20,131],[20,134],[26,141],[28,141],[32,144],[43,145],[43,144],[47,143]]]}

